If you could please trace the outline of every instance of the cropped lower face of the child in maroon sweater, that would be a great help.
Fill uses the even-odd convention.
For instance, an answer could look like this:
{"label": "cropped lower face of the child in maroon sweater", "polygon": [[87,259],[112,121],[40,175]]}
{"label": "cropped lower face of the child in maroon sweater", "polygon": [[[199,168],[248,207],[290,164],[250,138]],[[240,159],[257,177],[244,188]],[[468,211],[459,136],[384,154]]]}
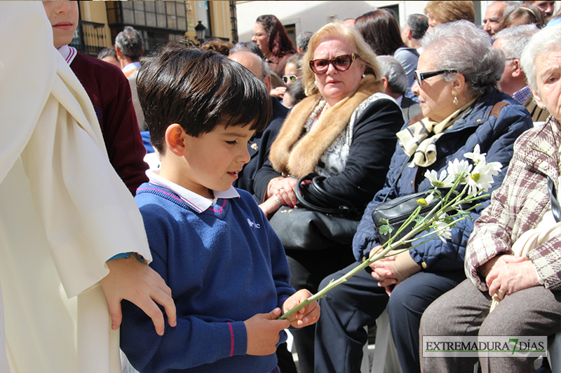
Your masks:
{"label": "cropped lower face of the child in maroon sweater", "polygon": [[78,1],[43,1],[43,7],[53,26],[55,48],[69,44],[78,27]]}

